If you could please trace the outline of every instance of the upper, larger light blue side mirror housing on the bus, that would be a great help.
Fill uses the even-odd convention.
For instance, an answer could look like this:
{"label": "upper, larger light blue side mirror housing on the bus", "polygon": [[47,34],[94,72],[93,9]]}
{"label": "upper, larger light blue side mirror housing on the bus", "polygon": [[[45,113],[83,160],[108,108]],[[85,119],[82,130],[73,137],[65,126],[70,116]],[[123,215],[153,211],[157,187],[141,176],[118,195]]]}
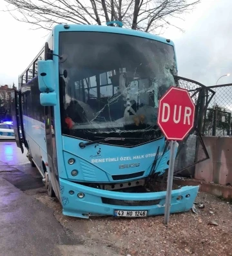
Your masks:
{"label": "upper, larger light blue side mirror housing on the bus", "polygon": [[53,60],[48,59],[46,61],[38,61],[38,79],[39,79],[39,91],[41,92],[53,92],[55,91],[55,76]]}

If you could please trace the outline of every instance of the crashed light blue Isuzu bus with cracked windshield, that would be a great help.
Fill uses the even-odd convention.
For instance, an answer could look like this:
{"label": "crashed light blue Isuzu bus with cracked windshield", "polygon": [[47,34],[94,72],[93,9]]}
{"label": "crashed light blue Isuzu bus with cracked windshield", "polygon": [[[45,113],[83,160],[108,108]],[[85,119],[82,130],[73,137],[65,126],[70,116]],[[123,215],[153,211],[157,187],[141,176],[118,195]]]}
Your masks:
{"label": "crashed light blue Isuzu bus with cracked windshield", "polygon": [[[176,75],[169,39],[111,25],[53,28],[12,104],[17,146],[64,215],[164,213],[166,191],[149,184],[168,169],[157,112]],[[191,209],[197,192],[173,190],[171,213]]]}

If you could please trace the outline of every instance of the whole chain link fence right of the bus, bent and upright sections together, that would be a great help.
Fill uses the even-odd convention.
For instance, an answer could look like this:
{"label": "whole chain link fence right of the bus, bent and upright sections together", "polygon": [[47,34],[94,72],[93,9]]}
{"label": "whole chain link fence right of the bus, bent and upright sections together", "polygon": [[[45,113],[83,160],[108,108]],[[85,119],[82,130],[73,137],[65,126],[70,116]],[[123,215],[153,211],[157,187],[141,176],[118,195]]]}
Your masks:
{"label": "whole chain link fence right of the bus, bent and upright sections together", "polygon": [[[195,123],[184,141],[179,142],[174,174],[193,177],[195,165],[209,158],[202,136],[232,136],[232,84],[206,87],[179,76],[175,77],[175,83],[187,89],[195,103]],[[162,179],[166,180],[167,174]]]}

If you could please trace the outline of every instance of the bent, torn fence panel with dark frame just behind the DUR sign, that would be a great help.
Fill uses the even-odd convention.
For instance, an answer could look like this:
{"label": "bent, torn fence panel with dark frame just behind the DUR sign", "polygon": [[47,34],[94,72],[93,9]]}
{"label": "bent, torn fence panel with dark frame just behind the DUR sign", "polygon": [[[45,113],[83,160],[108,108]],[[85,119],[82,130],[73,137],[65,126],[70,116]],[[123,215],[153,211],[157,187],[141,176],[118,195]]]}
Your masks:
{"label": "bent, torn fence panel with dark frame just behind the DUR sign", "polygon": [[[182,142],[179,142],[174,173],[181,176],[193,176],[194,166],[209,158],[201,138],[200,129],[204,120],[204,111],[207,109],[215,92],[197,81],[180,76],[175,77],[175,83],[177,87],[187,89],[193,103],[195,103],[195,124],[188,136]],[[208,98],[205,96],[206,92]],[[167,141],[166,144],[168,150],[169,142]],[[197,151],[200,151],[200,154],[196,154]]]}

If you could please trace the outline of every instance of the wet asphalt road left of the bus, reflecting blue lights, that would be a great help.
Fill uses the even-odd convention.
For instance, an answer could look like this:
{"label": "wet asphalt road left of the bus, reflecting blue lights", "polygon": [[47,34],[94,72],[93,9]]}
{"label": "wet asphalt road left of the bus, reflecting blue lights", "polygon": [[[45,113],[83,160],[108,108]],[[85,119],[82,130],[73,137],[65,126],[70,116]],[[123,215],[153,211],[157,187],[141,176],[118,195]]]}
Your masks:
{"label": "wet asphalt road left of the bus, reflecting blue lights", "polygon": [[101,236],[88,238],[86,220],[68,217],[64,225],[59,202],[57,213],[38,195],[51,200],[26,150],[0,141],[0,256],[121,256]]}

